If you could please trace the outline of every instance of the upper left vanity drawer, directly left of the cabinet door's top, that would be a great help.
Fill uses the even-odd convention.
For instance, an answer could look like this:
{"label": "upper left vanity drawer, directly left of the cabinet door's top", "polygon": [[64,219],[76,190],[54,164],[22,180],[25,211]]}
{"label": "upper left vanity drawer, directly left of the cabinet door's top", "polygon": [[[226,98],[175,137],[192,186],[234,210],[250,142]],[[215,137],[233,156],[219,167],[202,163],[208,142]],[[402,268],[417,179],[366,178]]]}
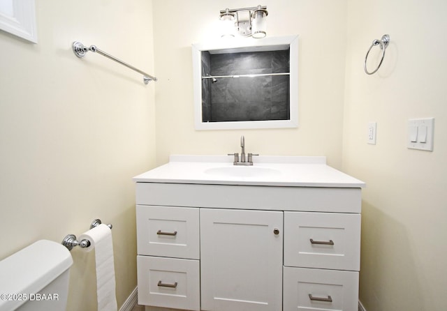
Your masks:
{"label": "upper left vanity drawer, directly left of the cabinet door's top", "polygon": [[199,259],[198,208],[136,206],[138,255]]}

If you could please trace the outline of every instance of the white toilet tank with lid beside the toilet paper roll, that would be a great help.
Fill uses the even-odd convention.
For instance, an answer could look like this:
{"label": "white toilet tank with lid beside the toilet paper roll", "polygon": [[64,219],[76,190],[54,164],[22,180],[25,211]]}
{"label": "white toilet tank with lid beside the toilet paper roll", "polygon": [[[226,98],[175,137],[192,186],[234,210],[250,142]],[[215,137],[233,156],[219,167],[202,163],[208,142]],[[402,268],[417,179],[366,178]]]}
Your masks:
{"label": "white toilet tank with lid beside the toilet paper roll", "polygon": [[0,311],[66,310],[73,264],[60,243],[40,240],[0,261]]}

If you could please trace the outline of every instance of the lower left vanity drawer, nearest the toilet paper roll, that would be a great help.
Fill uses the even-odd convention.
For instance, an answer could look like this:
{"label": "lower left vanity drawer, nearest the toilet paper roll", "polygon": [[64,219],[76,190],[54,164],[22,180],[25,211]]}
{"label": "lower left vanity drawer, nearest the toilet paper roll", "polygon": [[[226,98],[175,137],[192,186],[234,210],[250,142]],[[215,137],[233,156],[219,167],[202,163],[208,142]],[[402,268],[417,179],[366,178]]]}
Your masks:
{"label": "lower left vanity drawer, nearest the toilet paper roll", "polygon": [[198,260],[137,256],[138,304],[200,310]]}

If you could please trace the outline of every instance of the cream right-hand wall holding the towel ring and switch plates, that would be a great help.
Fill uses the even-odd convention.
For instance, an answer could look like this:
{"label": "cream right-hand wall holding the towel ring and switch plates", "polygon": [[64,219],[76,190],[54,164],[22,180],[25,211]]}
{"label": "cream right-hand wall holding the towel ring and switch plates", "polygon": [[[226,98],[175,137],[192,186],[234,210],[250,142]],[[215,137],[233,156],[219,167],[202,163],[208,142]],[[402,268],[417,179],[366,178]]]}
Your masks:
{"label": "cream right-hand wall holding the towel ring and switch plates", "polygon": [[[360,301],[367,311],[447,310],[447,2],[349,0],[343,169],[362,179]],[[363,72],[372,40],[390,45]],[[434,117],[434,151],[406,148]],[[377,144],[366,143],[377,122]]]}

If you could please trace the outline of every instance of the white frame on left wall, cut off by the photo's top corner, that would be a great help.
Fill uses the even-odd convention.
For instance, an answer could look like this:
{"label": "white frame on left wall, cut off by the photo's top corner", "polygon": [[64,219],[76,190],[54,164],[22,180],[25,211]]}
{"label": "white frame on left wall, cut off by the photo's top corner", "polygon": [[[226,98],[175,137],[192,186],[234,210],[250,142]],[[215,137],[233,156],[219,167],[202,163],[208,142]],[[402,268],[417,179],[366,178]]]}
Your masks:
{"label": "white frame on left wall, cut off by the photo's top corner", "polygon": [[35,0],[0,1],[0,29],[37,43]]}

